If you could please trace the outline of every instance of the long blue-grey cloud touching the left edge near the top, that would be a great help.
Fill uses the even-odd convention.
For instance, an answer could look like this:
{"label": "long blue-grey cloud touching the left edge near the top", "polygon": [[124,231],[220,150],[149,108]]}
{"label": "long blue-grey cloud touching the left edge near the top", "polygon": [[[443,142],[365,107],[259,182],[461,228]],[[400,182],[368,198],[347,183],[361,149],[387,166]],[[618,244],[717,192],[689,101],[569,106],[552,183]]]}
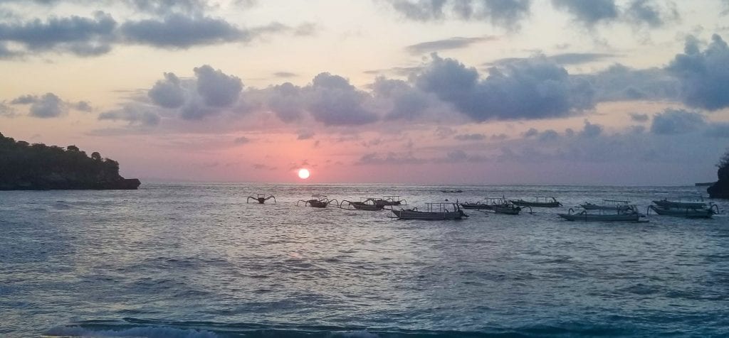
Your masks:
{"label": "long blue-grey cloud touching the left edge near the top", "polygon": [[[111,50],[117,22],[104,12],[88,17],[50,17],[26,23],[0,23],[1,54],[22,55],[27,52],[70,52],[79,56],[101,55]],[[10,51],[6,42],[20,44],[23,49]]]}

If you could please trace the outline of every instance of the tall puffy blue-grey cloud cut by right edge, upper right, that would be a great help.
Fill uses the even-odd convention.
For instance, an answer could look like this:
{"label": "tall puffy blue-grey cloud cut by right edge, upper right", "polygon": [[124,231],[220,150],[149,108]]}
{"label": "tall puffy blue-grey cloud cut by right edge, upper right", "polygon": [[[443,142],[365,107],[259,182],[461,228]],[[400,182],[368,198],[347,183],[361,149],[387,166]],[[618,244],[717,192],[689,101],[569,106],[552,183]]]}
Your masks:
{"label": "tall puffy blue-grey cloud cut by right edge, upper right", "polygon": [[729,107],[729,47],[714,34],[712,42],[702,51],[698,40],[689,36],[685,52],[676,55],[666,68],[681,84],[685,105],[706,110]]}

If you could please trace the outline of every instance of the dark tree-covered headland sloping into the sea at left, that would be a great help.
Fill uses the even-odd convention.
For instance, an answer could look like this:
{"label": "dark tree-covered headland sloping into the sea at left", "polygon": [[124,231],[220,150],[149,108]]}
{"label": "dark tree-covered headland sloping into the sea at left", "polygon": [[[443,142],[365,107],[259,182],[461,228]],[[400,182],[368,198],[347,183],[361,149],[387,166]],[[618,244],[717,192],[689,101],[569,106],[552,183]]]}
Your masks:
{"label": "dark tree-covered headland sloping into the sea at left", "polygon": [[66,149],[29,144],[0,133],[0,190],[136,189],[141,182],[119,175],[119,162],[87,156],[75,145]]}

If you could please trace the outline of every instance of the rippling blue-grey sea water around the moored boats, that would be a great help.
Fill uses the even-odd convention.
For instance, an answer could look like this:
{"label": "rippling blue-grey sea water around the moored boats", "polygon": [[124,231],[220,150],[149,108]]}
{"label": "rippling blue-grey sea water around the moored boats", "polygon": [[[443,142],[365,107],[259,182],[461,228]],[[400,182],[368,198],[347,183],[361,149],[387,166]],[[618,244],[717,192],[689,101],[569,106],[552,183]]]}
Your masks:
{"label": "rippling blue-grey sea water around the moored boats", "polygon": [[[440,193],[457,188],[463,193]],[[727,337],[729,218],[567,222],[694,187],[152,184],[0,192],[0,336]],[[246,204],[256,193],[266,204]],[[555,196],[461,221],[296,206]],[[721,209],[729,205],[720,202]]]}

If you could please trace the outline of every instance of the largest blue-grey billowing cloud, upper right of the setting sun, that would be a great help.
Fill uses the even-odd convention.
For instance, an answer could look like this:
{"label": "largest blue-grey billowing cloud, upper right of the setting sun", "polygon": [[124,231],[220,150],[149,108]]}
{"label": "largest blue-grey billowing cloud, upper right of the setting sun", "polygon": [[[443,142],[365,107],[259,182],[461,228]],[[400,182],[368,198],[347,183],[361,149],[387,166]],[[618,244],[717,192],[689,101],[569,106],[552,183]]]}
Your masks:
{"label": "largest blue-grey billowing cloud, upper right of the setting sun", "polygon": [[434,54],[414,82],[475,121],[561,117],[594,106],[589,84],[542,57],[492,67],[478,78],[475,68]]}

